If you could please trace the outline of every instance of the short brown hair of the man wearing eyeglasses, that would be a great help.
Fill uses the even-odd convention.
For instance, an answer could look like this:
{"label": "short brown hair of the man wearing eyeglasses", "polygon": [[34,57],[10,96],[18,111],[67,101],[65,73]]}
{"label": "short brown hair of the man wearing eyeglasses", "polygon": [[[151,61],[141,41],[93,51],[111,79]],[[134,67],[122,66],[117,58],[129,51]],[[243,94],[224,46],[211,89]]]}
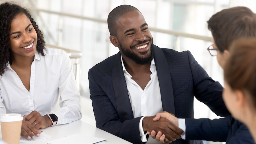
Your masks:
{"label": "short brown hair of the man wearing eyeglasses", "polygon": [[223,9],[207,21],[215,44],[223,52],[233,40],[240,37],[256,37],[256,14],[247,7]]}

